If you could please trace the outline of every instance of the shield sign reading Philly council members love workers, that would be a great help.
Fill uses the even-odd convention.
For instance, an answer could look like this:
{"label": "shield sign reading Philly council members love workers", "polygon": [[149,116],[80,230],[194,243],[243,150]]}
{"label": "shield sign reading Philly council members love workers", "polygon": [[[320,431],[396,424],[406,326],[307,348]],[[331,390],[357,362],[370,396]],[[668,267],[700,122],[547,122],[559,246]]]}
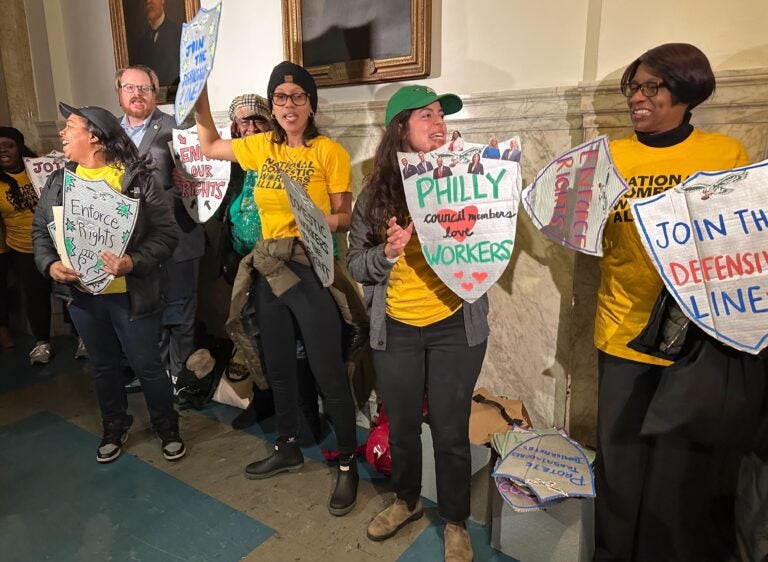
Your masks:
{"label": "shield sign reading Philly council members love workers", "polygon": [[520,164],[483,159],[482,146],[467,143],[450,161],[444,150],[397,155],[424,257],[467,302],[483,296],[507,268],[520,202]]}

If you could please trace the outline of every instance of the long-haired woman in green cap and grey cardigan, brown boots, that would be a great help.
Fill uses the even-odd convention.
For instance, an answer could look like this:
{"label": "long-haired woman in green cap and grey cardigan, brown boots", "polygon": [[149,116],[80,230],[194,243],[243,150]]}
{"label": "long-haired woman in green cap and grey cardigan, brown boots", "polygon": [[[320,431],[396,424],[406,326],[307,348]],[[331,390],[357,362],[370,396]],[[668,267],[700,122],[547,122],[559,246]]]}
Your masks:
{"label": "long-haired woman in green cap and grey cardigan, brown boots", "polygon": [[390,420],[395,502],[368,526],[381,541],[420,518],[421,422],[425,393],[435,447],[445,555],[471,560],[469,412],[488,338],[488,297],[464,302],[424,259],[410,219],[397,153],[429,152],[447,136],[453,94],[405,86],[389,100],[373,173],[355,205],[349,272],[363,284],[371,317],[377,390]]}

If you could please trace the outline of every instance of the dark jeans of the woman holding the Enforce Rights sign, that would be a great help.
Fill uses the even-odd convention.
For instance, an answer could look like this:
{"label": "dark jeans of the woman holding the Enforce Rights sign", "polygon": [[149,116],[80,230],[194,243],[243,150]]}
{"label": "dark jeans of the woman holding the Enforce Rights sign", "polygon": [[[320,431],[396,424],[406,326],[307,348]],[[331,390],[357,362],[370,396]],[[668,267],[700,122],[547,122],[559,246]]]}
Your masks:
{"label": "dark jeans of the woman holding the Enforce Rights sign", "polygon": [[178,424],[173,387],[160,360],[160,314],[130,319],[127,293],[90,295],[77,289],[69,314],[88,348],[93,382],[104,422],[128,412],[124,359],[141,381],[152,428]]}

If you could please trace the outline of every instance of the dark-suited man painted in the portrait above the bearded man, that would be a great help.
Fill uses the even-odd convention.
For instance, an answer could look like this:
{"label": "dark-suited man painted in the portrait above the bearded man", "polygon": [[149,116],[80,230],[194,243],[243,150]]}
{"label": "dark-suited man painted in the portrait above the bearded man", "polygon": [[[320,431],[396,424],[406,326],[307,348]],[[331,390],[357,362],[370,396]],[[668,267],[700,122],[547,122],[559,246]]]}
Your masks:
{"label": "dark-suited man painted in the portrait above the bearded man", "polygon": [[157,72],[161,86],[170,86],[179,79],[179,48],[181,24],[165,14],[165,0],[144,0],[144,14],[149,24],[136,47],[136,59]]}

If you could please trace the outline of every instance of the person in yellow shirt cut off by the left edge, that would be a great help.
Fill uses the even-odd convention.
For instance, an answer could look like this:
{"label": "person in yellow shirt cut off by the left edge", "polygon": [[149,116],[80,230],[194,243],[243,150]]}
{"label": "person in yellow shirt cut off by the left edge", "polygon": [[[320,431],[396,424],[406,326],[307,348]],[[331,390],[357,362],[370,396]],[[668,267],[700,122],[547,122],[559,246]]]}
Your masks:
{"label": "person in yellow shirt cut off by the left edge", "polygon": [[24,135],[13,127],[0,127],[0,219],[5,225],[13,272],[24,292],[27,319],[35,336],[29,353],[32,365],[45,364],[53,355],[51,347],[51,284],[35,268],[32,254],[32,216],[37,194],[24,169],[23,158],[34,157],[24,144]]}

